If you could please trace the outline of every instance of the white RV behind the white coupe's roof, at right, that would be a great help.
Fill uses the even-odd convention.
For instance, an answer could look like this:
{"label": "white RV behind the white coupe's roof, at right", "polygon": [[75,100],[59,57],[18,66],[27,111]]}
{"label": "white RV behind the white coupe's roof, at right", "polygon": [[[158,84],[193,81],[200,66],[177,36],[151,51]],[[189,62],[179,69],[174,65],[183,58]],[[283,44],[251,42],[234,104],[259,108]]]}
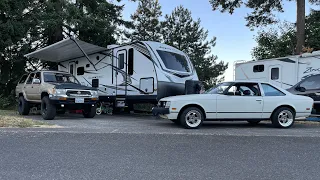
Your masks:
{"label": "white RV behind the white coupe's roof, at right", "polygon": [[234,63],[234,80],[262,80],[285,89],[314,74],[320,74],[320,51]]}

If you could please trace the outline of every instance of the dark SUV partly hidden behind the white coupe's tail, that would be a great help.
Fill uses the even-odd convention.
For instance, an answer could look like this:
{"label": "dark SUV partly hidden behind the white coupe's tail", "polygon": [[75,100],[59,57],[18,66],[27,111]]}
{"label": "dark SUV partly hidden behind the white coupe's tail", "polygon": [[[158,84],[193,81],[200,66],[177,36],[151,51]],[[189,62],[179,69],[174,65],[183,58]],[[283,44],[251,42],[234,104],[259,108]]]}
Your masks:
{"label": "dark SUV partly hidden behind the white coupe's tail", "polygon": [[292,94],[309,96],[314,100],[314,111],[320,113],[320,74],[311,75],[287,89]]}

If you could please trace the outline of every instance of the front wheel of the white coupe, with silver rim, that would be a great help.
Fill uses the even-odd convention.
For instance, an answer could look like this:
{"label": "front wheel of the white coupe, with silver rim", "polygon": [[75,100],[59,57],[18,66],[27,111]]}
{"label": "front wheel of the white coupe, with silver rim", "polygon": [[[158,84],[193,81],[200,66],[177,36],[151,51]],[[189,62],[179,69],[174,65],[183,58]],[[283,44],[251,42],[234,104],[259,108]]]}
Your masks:
{"label": "front wheel of the white coupe, with silver rim", "polygon": [[[190,121],[188,121],[188,119],[190,119],[191,118],[190,116],[192,116],[192,115],[194,115],[193,118],[199,116],[198,117],[199,119],[197,119],[197,120],[195,120],[195,122],[191,123],[190,121],[194,121],[194,119],[191,119]],[[197,129],[202,125],[202,123],[204,121],[204,115],[199,108],[189,107],[181,113],[181,115],[179,117],[179,121],[180,121],[181,125],[183,127],[185,127],[186,129]]]}

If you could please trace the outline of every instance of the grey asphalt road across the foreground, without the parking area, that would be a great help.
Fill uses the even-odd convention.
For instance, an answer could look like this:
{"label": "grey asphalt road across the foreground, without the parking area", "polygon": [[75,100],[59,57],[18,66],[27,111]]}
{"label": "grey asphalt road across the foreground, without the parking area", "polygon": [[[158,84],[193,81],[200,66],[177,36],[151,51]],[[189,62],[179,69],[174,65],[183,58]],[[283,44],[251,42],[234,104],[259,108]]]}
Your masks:
{"label": "grey asphalt road across the foreground, without the parking area", "polygon": [[320,139],[0,132],[0,179],[319,179]]}

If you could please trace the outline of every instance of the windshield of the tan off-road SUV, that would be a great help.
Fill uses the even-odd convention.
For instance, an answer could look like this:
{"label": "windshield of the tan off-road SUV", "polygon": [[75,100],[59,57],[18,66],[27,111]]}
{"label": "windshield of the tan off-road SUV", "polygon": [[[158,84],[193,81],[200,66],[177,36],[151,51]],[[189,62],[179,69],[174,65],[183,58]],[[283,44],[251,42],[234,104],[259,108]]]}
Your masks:
{"label": "windshield of the tan off-road SUV", "polygon": [[65,73],[45,72],[43,73],[43,78],[44,82],[80,84],[73,75]]}

